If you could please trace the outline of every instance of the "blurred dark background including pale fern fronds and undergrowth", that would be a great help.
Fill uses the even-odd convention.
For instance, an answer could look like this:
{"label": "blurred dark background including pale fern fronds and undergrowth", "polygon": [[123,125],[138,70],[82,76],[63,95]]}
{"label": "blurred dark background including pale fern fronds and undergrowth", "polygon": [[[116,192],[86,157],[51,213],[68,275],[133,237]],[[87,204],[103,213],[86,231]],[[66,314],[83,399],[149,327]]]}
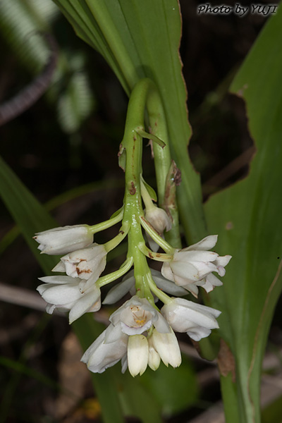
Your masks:
{"label": "blurred dark background including pale fern fronds and undergrowth", "polygon": [[[245,106],[226,92],[267,18],[199,16],[200,3],[180,1],[180,55],[193,130],[190,157],[201,173],[206,199],[247,174],[254,149]],[[97,223],[121,207],[123,173],[117,152],[128,99],[102,56],[75,36],[51,0],[4,0],[0,2],[0,103],[29,84],[48,61],[50,49],[38,31],[51,32],[56,39],[56,72],[47,93],[0,128],[1,156],[37,199],[47,203],[62,226]],[[144,164],[145,176],[152,181],[149,148]],[[36,294],[30,307],[13,304],[18,298],[28,305],[26,293],[32,301],[30,292],[42,271],[23,239],[16,236],[17,229],[2,203],[0,210],[2,295],[6,285],[28,290],[15,290],[9,302],[1,302],[0,422],[99,422],[99,403],[90,375],[79,362],[80,346],[67,320],[61,316],[49,319],[40,311]],[[102,243],[110,235],[111,229],[98,234],[96,240]],[[112,257],[113,267],[119,260]],[[281,364],[279,309],[264,367],[268,374]],[[105,320],[103,314],[99,319]],[[182,367],[156,372],[154,377],[146,373],[140,379],[139,399],[146,402],[145,393],[152,393],[166,422],[200,423],[198,416],[204,410],[214,410],[216,417],[212,420],[209,415],[202,422],[223,421],[214,364],[200,360],[186,336],[180,336],[180,342],[185,357]],[[273,407],[267,405],[264,422],[281,422],[279,404],[276,400]],[[133,411],[134,405],[127,414]],[[128,422],[138,421],[136,416],[128,417]]]}

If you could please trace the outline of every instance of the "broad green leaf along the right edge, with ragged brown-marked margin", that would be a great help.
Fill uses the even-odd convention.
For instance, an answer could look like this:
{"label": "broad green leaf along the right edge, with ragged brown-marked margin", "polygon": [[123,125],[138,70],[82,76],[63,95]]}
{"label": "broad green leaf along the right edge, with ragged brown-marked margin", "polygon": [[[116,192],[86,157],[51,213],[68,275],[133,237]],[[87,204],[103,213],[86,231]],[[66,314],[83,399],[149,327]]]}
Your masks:
{"label": "broad green leaf along the right edge, with ragged brown-marked margin", "polygon": [[[282,9],[271,18],[231,86],[243,96],[257,153],[250,175],[206,205],[209,233],[231,254],[223,287],[212,305],[222,310],[221,336],[235,357],[223,388],[233,390],[242,422],[259,422],[259,376],[266,337],[282,288]],[[228,422],[235,422],[228,414]]]}

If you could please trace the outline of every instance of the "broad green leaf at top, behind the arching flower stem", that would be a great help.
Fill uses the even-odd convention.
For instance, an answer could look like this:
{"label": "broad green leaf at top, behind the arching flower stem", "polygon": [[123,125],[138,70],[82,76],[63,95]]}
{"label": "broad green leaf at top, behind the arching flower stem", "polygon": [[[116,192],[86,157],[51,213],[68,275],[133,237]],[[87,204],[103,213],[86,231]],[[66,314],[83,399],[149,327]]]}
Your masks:
{"label": "broad green leaf at top, behind the arching flower stem", "polygon": [[75,32],[101,53],[129,95],[141,78],[151,78],[164,103],[173,159],[181,168],[180,215],[190,242],[205,235],[200,178],[188,158],[185,84],[178,47],[177,0],[54,0]]}

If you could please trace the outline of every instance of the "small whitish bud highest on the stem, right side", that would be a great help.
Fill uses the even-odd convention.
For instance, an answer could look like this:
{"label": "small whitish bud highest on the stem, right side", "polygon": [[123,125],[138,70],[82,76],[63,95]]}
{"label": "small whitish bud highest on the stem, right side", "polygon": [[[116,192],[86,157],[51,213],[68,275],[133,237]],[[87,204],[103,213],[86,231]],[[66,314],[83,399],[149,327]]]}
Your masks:
{"label": "small whitish bud highest on the stem, right side", "polygon": [[[164,231],[167,232],[171,230],[171,219],[169,219],[168,214],[164,209],[154,206],[154,204],[152,204],[151,207],[146,207],[145,219],[152,225],[154,230],[159,233],[161,238],[164,238]],[[159,250],[159,245],[149,234],[147,234],[147,240],[152,251]]]}

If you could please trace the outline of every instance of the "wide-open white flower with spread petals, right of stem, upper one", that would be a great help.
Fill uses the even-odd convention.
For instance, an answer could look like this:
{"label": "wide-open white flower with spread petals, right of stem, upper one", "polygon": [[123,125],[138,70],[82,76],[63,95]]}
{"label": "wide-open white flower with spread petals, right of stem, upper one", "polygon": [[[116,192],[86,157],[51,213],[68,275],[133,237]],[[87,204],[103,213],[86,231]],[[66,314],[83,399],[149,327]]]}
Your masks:
{"label": "wide-open white flower with spread petals, right of stem, upper one", "polygon": [[176,250],[170,262],[164,262],[161,274],[178,286],[190,291],[197,297],[198,286],[207,292],[222,282],[212,272],[219,276],[225,275],[224,267],[231,255],[220,257],[216,252],[208,251],[216,245],[217,235],[209,235],[199,243]]}

